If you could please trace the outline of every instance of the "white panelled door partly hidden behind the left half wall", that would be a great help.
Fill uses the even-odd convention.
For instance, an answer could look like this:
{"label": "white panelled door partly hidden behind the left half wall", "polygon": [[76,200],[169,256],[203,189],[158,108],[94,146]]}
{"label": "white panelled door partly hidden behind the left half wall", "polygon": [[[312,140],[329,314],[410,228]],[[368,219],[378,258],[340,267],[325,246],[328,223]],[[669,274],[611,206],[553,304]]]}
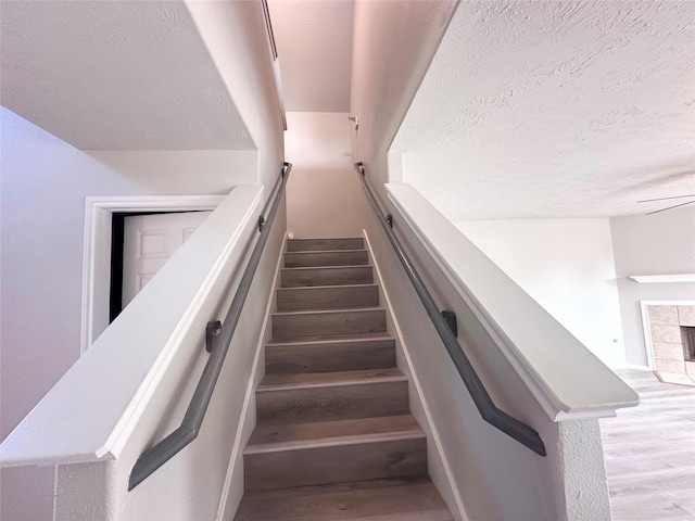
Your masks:
{"label": "white panelled door partly hidden behind the left half wall", "polygon": [[134,215],[124,219],[123,307],[137,295],[212,212]]}

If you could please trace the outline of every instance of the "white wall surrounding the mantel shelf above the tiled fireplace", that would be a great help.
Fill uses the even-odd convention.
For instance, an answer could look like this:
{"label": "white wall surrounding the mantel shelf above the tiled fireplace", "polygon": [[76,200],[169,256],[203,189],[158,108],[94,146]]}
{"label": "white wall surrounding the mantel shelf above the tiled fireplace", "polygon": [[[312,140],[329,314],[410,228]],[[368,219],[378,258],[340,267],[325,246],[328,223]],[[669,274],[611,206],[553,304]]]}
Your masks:
{"label": "white wall surrounding the mantel shelf above the tiled fireplace", "polygon": [[610,219],[628,364],[646,366],[640,301],[692,301],[695,283],[639,284],[631,275],[695,274],[695,207]]}

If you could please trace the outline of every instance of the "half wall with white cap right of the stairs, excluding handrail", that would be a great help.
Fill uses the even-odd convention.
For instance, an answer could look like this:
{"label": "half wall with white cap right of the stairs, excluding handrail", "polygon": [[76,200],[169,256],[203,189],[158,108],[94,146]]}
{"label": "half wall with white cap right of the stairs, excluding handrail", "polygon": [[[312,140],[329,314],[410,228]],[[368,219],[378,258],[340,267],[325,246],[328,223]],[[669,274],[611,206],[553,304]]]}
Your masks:
{"label": "half wall with white cap right of the stairs, excluding handrail", "polygon": [[[363,165],[356,169],[356,183],[371,181]],[[378,212],[367,195],[358,204],[390,294],[393,332],[407,352],[399,367],[418,382],[418,421],[435,428],[428,444],[443,463],[428,467],[450,509],[462,520],[610,519],[598,418],[636,405],[637,395],[413,187],[384,188]],[[392,233],[434,312],[421,302]],[[483,421],[451,346],[429,319],[442,309],[456,317],[454,347],[495,406],[538,432],[545,457]]]}

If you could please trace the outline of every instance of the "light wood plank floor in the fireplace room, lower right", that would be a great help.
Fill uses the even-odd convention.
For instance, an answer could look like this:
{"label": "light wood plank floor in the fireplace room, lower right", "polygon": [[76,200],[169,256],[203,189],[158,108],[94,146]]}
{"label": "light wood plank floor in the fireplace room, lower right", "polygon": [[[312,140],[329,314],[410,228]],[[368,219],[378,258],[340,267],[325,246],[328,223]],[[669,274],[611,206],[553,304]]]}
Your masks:
{"label": "light wood plank floor in the fireplace room, lower right", "polygon": [[601,420],[614,521],[695,519],[695,389],[617,371],[641,404]]}

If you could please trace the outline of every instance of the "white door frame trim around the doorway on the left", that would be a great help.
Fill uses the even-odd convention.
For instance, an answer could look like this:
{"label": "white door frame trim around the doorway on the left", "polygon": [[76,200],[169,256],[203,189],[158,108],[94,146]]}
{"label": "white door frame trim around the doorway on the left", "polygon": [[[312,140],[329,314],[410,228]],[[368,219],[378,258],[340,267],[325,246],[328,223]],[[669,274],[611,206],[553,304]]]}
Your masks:
{"label": "white door frame trim around the doorway on the left", "polygon": [[215,209],[227,195],[85,198],[80,356],[109,326],[111,219],[124,212],[193,212]]}

